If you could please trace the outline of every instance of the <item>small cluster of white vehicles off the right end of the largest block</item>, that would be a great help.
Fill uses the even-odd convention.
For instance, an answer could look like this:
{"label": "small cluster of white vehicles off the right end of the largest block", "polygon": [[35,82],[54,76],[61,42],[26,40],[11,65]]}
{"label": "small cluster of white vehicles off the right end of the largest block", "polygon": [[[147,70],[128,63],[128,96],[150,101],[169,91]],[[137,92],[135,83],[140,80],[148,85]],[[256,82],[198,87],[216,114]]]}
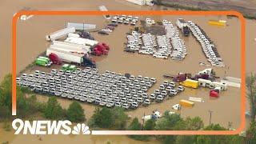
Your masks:
{"label": "small cluster of white vehicles off the right end of the largest block", "polygon": [[[175,88],[177,87],[177,88]],[[166,97],[174,97],[179,92],[185,90],[183,86],[176,86],[175,82],[164,81],[153,94],[150,94],[150,100],[162,102]]]}

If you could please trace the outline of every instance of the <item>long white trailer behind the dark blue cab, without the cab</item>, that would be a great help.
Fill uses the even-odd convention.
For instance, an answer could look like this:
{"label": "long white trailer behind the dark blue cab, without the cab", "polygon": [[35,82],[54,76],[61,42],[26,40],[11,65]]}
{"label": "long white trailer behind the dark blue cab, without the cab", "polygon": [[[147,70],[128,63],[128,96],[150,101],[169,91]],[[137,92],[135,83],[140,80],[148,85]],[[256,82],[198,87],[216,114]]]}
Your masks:
{"label": "long white trailer behind the dark blue cab, without the cab", "polygon": [[62,58],[62,61],[64,62],[74,62],[78,64],[82,64],[83,62],[84,54],[70,53],[64,50],[58,50],[54,48],[48,48],[46,50],[47,56],[49,56],[52,53],[58,55],[58,58]]}

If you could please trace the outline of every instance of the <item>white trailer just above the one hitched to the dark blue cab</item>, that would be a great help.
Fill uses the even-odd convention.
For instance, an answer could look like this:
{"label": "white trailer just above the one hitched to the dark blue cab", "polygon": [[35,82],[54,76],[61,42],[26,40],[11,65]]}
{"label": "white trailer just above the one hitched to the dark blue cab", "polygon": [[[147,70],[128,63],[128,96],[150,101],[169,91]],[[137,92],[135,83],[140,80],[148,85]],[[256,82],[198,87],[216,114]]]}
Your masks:
{"label": "white trailer just above the one hitched to the dark blue cab", "polygon": [[90,46],[78,45],[70,42],[53,41],[50,47],[61,47],[66,50],[78,50],[84,53],[90,53]]}

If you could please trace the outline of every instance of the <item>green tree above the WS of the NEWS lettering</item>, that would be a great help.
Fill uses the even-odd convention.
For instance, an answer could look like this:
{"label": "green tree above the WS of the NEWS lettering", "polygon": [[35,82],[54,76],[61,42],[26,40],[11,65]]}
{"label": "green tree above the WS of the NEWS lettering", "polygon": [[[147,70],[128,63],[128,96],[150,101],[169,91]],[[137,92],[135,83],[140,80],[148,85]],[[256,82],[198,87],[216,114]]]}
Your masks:
{"label": "green tree above the WS of the NEWS lettering", "polygon": [[59,120],[65,118],[65,110],[62,109],[55,97],[50,97],[46,104],[44,115],[46,118]]}

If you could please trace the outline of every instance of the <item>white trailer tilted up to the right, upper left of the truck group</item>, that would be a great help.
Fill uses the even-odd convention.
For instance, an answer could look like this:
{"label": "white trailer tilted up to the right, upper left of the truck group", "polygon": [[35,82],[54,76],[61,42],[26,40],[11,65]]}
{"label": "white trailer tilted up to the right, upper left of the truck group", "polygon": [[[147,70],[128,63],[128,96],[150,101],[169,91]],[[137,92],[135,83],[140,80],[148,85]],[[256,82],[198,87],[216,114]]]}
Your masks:
{"label": "white trailer tilted up to the right, upper left of the truck group", "polygon": [[65,37],[67,34],[74,33],[74,32],[75,32],[74,27],[68,27],[62,30],[58,30],[58,31],[55,31],[54,33],[46,35],[46,41],[54,41],[58,38]]}

